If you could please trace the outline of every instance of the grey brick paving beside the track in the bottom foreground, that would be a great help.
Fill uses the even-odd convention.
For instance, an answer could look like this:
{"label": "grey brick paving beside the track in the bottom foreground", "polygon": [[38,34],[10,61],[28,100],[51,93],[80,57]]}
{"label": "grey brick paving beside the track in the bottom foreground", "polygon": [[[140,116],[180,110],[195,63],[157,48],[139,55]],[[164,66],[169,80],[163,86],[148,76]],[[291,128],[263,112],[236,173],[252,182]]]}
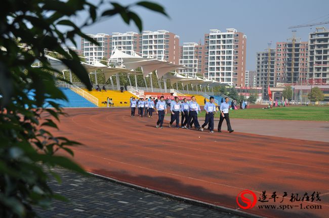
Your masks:
{"label": "grey brick paving beside the track in the bottom foreground", "polygon": [[137,218],[137,217],[191,217],[242,218],[201,206],[161,197],[148,192],[122,186],[95,177],[81,176],[56,169],[62,183],[50,182],[55,193],[70,200],[56,200],[48,210],[37,209],[40,217],[50,218]]}

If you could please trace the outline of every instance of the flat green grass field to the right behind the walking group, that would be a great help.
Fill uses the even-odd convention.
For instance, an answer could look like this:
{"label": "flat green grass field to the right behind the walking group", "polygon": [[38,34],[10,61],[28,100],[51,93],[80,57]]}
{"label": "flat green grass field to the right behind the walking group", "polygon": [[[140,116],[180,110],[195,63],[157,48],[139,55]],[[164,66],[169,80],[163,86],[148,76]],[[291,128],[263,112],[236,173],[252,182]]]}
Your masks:
{"label": "flat green grass field to the right behind the walking group", "polygon": [[[272,109],[251,108],[247,110],[230,110],[230,118],[329,121],[329,106],[290,106]],[[205,112],[199,113],[204,117]],[[219,118],[219,114],[215,114]]]}

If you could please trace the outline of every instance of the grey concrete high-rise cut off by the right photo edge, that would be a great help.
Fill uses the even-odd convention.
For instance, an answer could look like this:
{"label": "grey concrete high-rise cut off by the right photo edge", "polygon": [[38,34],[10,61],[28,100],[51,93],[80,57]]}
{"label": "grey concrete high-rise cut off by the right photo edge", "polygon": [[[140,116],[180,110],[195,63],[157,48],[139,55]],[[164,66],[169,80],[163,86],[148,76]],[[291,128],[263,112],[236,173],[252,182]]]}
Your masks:
{"label": "grey concrete high-rise cut off by the right photo edge", "polygon": [[308,79],[312,84],[329,83],[329,30],[317,27],[308,39]]}

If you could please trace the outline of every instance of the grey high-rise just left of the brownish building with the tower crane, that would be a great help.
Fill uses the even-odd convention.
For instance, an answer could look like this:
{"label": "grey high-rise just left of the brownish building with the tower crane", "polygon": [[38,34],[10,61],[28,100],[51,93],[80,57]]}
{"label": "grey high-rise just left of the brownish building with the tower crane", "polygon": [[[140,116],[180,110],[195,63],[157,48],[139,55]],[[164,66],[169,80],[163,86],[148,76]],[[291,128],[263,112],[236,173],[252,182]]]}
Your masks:
{"label": "grey high-rise just left of the brownish building with the tower crane", "polygon": [[256,86],[262,87],[263,99],[268,99],[268,85],[275,87],[275,49],[256,53]]}

